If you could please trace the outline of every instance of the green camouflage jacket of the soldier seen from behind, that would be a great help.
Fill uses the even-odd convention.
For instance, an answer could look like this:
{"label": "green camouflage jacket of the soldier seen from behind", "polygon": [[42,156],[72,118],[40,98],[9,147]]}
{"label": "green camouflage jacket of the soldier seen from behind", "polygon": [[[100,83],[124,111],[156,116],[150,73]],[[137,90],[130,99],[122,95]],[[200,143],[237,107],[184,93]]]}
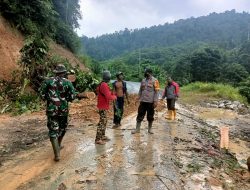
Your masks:
{"label": "green camouflage jacket of the soldier seen from behind", "polygon": [[47,101],[46,114],[49,116],[67,116],[68,102],[74,100],[76,95],[72,83],[58,76],[45,80],[40,93],[42,99]]}

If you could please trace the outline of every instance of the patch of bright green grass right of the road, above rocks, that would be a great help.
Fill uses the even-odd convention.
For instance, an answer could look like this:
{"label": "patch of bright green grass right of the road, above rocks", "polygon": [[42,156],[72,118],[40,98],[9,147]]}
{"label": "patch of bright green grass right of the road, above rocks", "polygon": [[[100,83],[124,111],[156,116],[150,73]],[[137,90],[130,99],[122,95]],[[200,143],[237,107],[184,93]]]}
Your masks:
{"label": "patch of bright green grass right of the road, above rocks", "polygon": [[240,101],[247,104],[246,98],[240,95],[239,89],[227,84],[195,82],[182,87],[180,92],[180,100],[188,104],[199,104],[218,99]]}

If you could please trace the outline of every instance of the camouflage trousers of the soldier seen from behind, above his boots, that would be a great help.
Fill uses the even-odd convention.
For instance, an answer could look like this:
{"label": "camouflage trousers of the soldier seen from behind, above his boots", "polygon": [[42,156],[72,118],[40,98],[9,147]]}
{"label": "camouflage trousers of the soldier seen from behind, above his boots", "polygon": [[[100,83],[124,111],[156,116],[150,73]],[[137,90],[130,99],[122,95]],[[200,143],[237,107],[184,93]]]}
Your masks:
{"label": "camouflage trousers of the soldier seen from behind, above his boots", "polygon": [[47,116],[50,138],[63,137],[68,126],[68,116]]}

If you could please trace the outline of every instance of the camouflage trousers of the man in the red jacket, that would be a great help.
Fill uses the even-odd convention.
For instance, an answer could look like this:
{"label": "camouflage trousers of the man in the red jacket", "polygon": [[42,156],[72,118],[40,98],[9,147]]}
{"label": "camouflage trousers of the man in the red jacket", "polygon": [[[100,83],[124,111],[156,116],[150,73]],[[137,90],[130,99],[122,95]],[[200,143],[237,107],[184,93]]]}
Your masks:
{"label": "camouflage trousers of the man in the red jacket", "polygon": [[96,138],[95,141],[99,141],[105,136],[106,126],[107,126],[107,110],[99,110],[100,121],[97,125]]}

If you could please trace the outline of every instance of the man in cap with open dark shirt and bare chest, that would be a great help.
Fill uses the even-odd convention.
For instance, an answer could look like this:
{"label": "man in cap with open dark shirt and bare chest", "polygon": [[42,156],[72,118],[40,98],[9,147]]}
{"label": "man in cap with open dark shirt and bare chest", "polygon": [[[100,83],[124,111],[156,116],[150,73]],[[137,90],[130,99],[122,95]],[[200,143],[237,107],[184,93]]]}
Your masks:
{"label": "man in cap with open dark shirt and bare chest", "polygon": [[128,92],[126,82],[123,81],[123,73],[116,73],[117,80],[113,82],[113,93],[116,94],[117,99],[114,101],[114,127],[117,128],[121,126],[121,120],[124,110],[124,96],[126,96],[127,102],[129,104]]}

